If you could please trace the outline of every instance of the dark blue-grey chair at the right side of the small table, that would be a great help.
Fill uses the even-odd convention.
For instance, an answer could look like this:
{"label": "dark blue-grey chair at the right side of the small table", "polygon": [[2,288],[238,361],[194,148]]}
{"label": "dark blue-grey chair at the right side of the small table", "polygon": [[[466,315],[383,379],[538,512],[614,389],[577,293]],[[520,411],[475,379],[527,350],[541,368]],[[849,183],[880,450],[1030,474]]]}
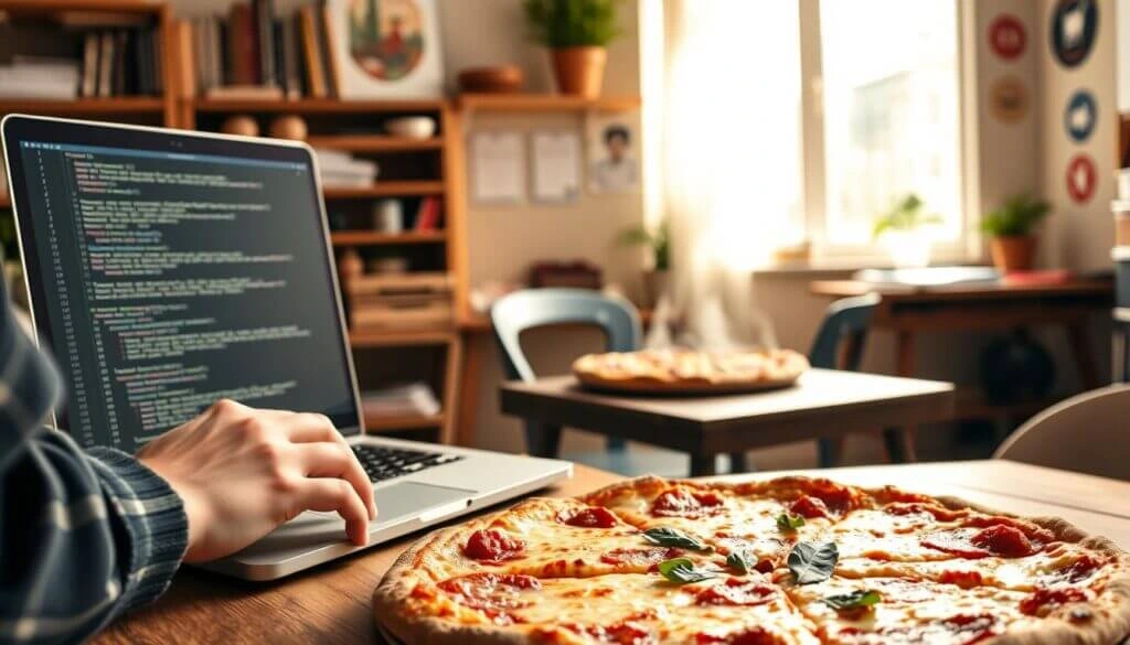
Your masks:
{"label": "dark blue-grey chair at the right side of the small table", "polygon": [[[859,372],[867,332],[879,300],[878,294],[867,294],[841,298],[828,305],[824,322],[812,341],[812,349],[808,352],[808,361],[812,367]],[[884,429],[883,441],[892,461],[903,461],[913,452],[907,444],[905,430],[901,428]],[[817,441],[817,461],[820,468],[835,465],[842,450],[843,438]]]}

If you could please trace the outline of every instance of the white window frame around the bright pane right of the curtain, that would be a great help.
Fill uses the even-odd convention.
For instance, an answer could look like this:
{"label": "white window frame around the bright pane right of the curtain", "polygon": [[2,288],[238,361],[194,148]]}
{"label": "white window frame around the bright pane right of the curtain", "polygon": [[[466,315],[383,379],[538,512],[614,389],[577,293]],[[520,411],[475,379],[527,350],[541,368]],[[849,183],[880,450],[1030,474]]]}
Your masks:
{"label": "white window frame around the bright pane right of the curtain", "polygon": [[[889,262],[887,251],[876,242],[843,244],[827,239],[827,169],[825,152],[822,0],[798,0],[800,23],[800,159],[805,238],[811,245],[809,263],[875,264]],[[835,1],[835,0],[833,0]],[[958,213],[960,233],[951,242],[936,242],[931,263],[983,260],[979,232],[979,186],[976,185],[976,44],[975,8],[964,0],[950,0],[957,30],[957,131]]]}

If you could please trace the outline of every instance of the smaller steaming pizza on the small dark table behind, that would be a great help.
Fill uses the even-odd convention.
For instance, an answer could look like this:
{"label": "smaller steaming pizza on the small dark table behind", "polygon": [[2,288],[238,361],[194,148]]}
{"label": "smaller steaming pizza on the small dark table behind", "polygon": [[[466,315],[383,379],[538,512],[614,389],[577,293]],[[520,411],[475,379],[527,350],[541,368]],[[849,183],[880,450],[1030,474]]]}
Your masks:
{"label": "smaller steaming pizza on the small dark table behind", "polygon": [[582,356],[573,363],[573,374],[602,390],[724,392],[790,385],[808,367],[808,359],[791,349],[644,349]]}

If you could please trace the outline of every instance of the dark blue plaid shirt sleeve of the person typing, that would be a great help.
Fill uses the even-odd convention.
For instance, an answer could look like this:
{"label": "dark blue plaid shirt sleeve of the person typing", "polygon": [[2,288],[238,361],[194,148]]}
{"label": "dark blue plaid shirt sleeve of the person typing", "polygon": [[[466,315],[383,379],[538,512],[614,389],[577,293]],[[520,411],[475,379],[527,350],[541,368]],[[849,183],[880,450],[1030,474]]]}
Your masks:
{"label": "dark blue plaid shirt sleeve of the person typing", "polygon": [[0,645],[86,639],[160,595],[188,544],[183,504],[160,477],[44,427],[59,391],[54,365],[3,307]]}

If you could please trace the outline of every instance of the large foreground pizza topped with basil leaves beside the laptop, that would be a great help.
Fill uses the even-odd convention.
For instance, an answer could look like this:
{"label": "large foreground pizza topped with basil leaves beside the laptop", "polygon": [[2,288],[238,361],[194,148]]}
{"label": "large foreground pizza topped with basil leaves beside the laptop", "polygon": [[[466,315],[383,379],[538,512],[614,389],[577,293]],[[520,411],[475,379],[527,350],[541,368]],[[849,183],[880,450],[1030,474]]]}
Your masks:
{"label": "large foreground pizza topped with basil leaves beside the laptop", "polygon": [[1130,556],[889,487],[645,477],[436,531],[374,611],[411,645],[1101,645],[1130,634]]}

